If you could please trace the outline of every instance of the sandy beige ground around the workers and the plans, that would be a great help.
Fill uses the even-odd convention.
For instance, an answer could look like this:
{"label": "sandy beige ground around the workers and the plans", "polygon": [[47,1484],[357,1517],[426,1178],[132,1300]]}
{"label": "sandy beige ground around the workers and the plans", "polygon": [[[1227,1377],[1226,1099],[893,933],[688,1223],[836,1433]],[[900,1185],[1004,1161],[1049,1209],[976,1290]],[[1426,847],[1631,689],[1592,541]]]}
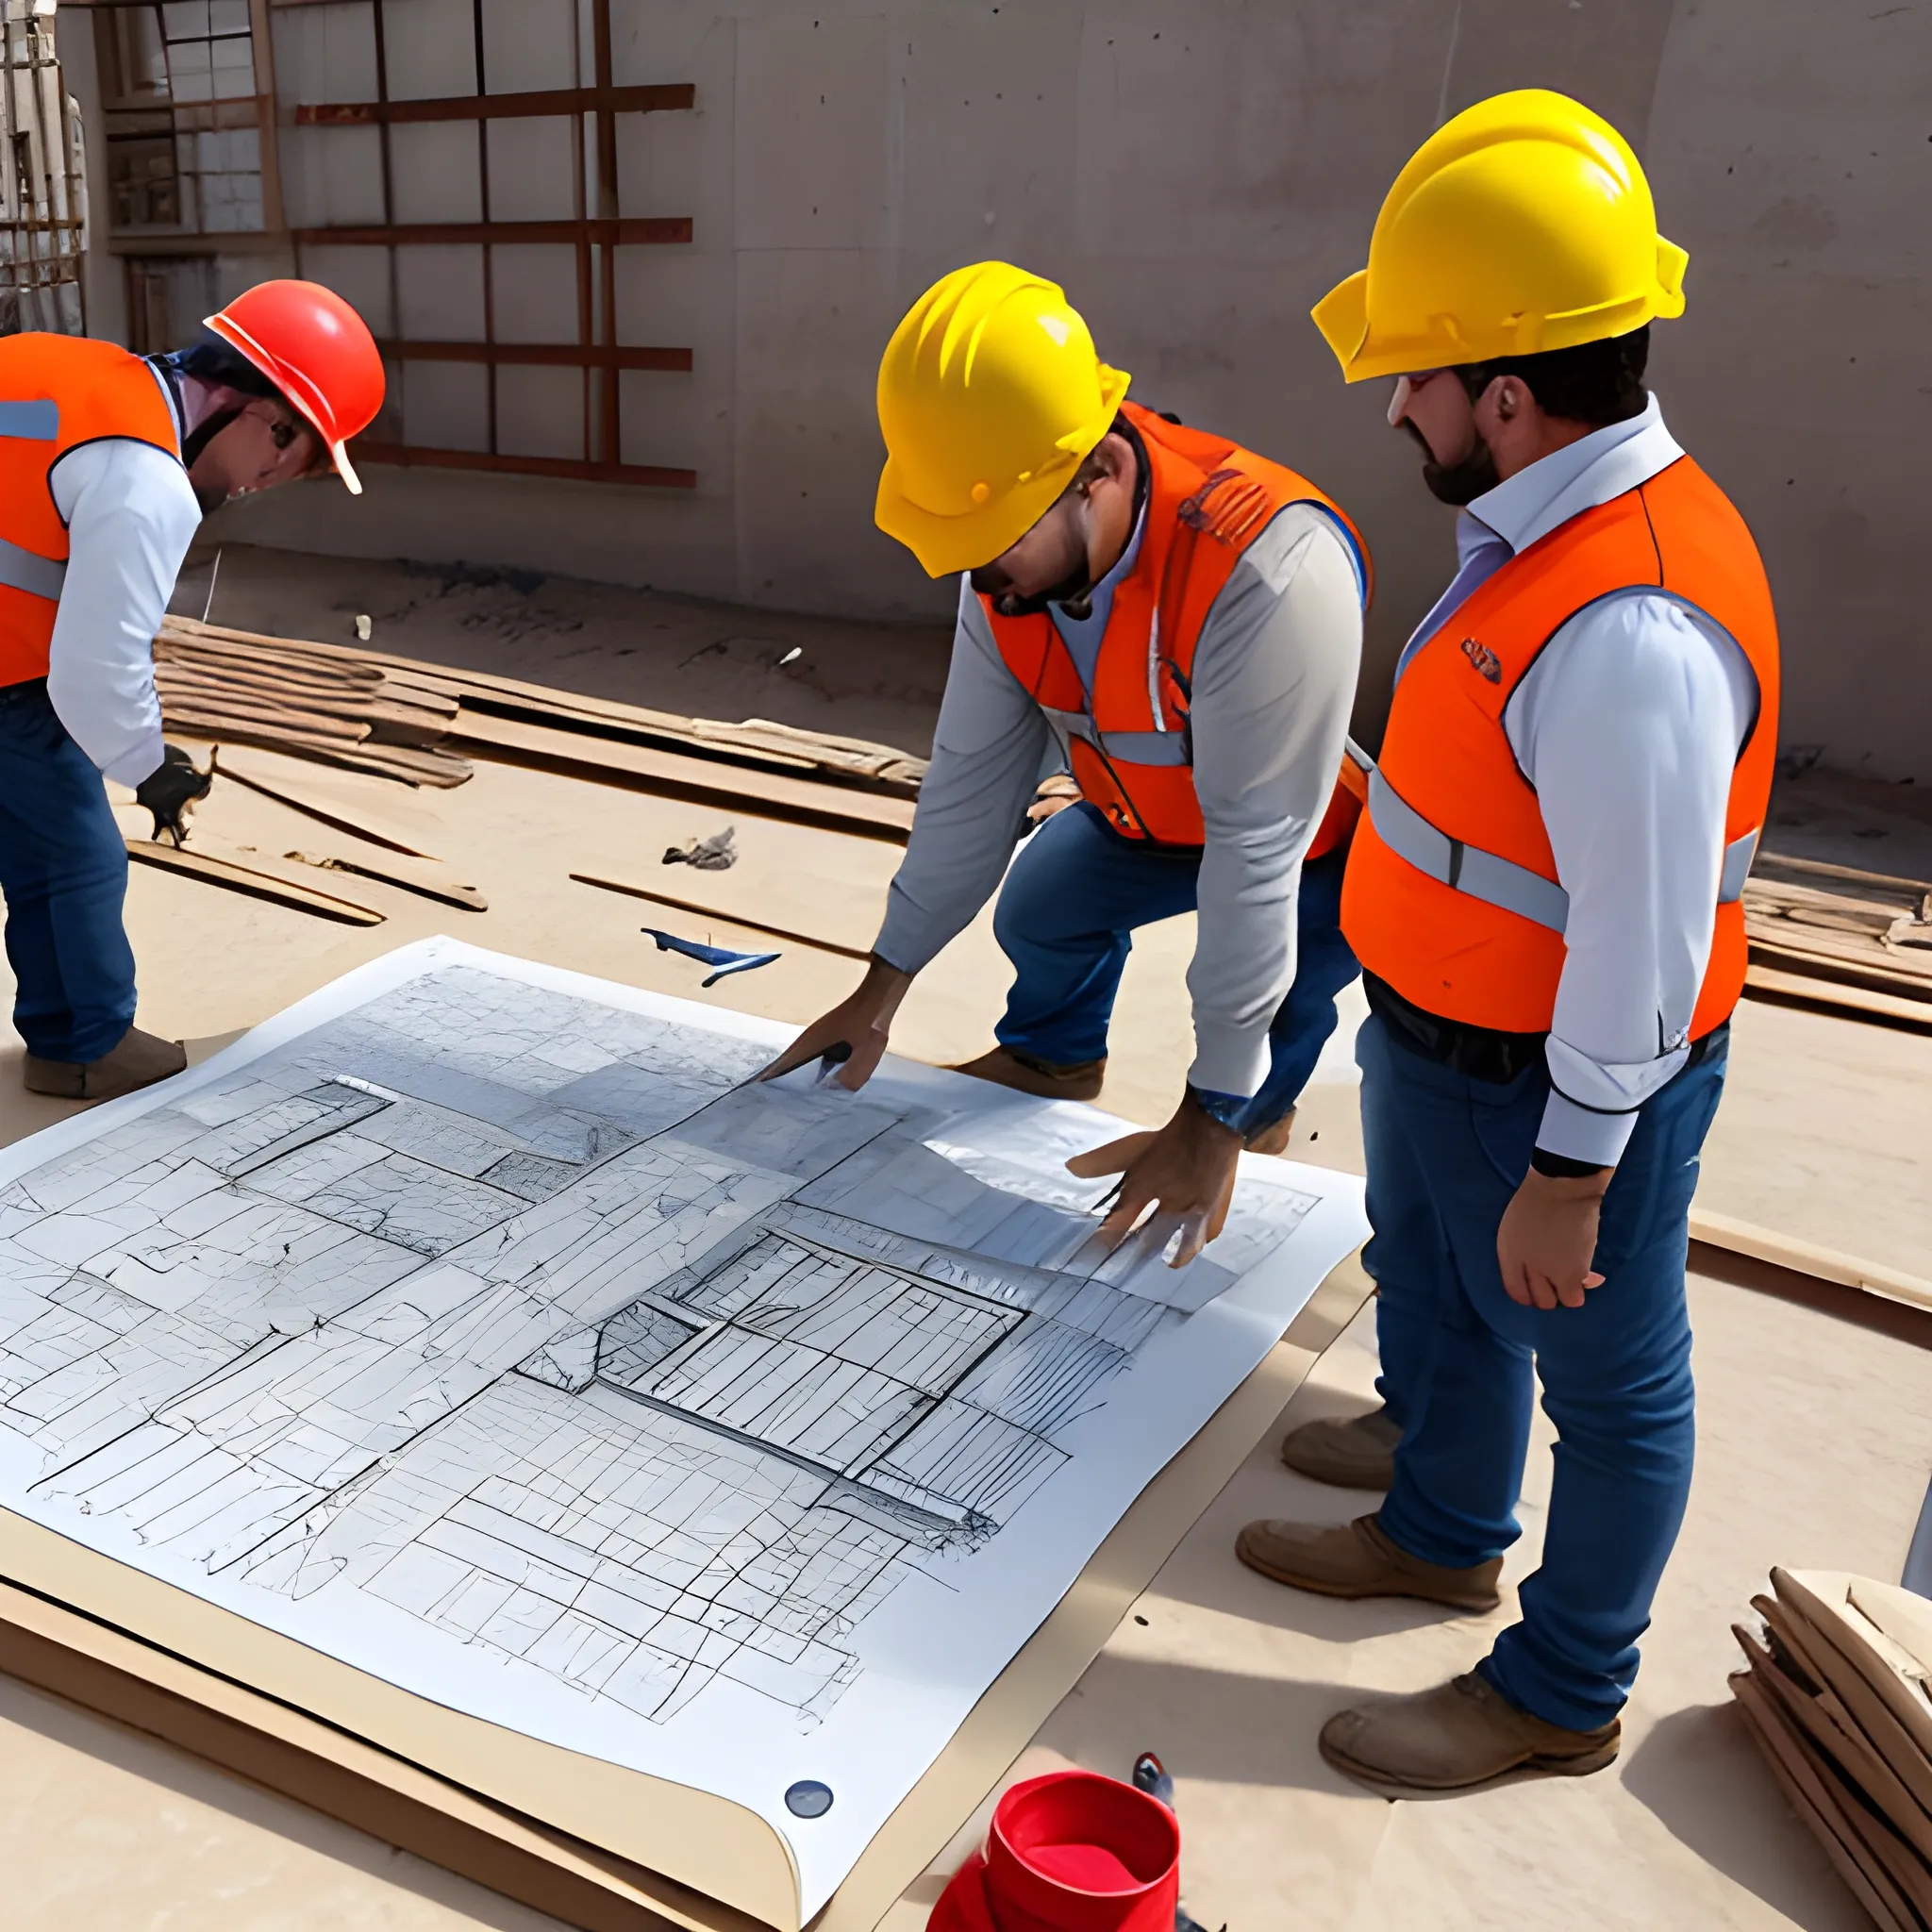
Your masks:
{"label": "sandy beige ground around the workers and the plans", "polygon": [[[234,562],[230,553],[224,582]],[[267,624],[269,593],[263,607],[249,609],[247,572],[234,572],[234,580],[236,603],[218,601],[216,616]],[[415,603],[406,595],[412,583]],[[489,661],[477,643],[495,636],[489,624],[466,628],[462,614],[450,614],[485,609],[464,603],[469,589],[423,589],[423,580],[400,566],[367,566],[355,593],[367,585],[394,593],[394,603],[381,607],[390,614],[379,609],[377,641],[433,657],[444,647],[456,653],[468,639],[477,645],[471,661]],[[510,587],[500,597],[502,585],[487,585],[479,597],[483,589],[497,611],[491,624],[512,630],[522,605],[510,599],[551,597],[568,616],[582,607],[566,605],[566,591],[591,595],[583,587],[527,595]],[[276,595],[299,614],[325,609],[325,591],[321,583],[282,583]],[[638,605],[630,595],[624,601]],[[655,622],[657,605],[643,609]],[[672,641],[653,645],[657,661],[726,622],[707,607],[680,605],[678,612],[665,624]],[[771,641],[794,636],[781,620],[761,616],[757,626]],[[282,620],[282,628],[305,626]],[[543,672],[527,653],[516,655],[526,641],[504,638],[495,668],[560,678],[560,665]],[[908,653],[918,649],[918,636],[906,641]],[[943,653],[929,638],[925,649],[931,655],[918,659],[925,680],[918,690],[927,694],[920,703],[929,719]],[[827,661],[837,661],[833,643]],[[591,670],[612,678],[636,670],[601,647],[576,663],[583,688],[597,688],[587,682]],[[703,686],[699,672],[719,682]],[[823,721],[765,701],[773,692],[796,699],[796,690],[771,674],[765,697],[730,701],[736,674],[701,659],[694,682],[674,690],[601,688],[651,703],[676,696],[682,709],[726,717]],[[914,699],[881,686],[871,701],[881,723],[858,724],[842,709],[840,728],[918,742],[912,730],[889,728],[893,715],[910,717]],[[129,925],[141,956],[143,1024],[176,1036],[224,1034],[361,958],[433,931],[804,1020],[852,983],[850,960],[782,947],[775,966],[701,993],[699,970],[651,949],[638,927],[649,922],[692,937],[750,941],[755,935],[730,922],[742,912],[862,947],[896,858],[891,844],[740,815],[744,858],[736,869],[665,871],[657,858],[667,844],[715,831],[723,815],[489,765],[471,784],[435,798],[354,782],[375,788],[392,813],[406,811],[429,850],[489,895],[491,910],[456,912],[371,881],[303,871],[311,883],[386,914],[386,923],[359,931],[135,867]],[[133,815],[128,823],[137,827]],[[197,842],[282,866],[288,862],[276,854],[288,850],[352,848],[313,819],[234,786],[216,790]],[[717,914],[680,916],[599,893],[574,885],[572,869],[655,885],[670,879],[670,891]],[[1173,1105],[1186,1057],[1182,974],[1190,947],[1190,922],[1169,922],[1134,952],[1105,1099],[1117,1113],[1153,1121]],[[983,1049],[1003,985],[1005,966],[981,918],[920,981],[904,1010],[900,1047],[931,1061]],[[17,1045],[0,1051],[0,1132],[8,1138],[66,1111],[19,1095],[14,1053]],[[1932,1271],[1926,1095],[1932,1039],[1747,1005],[1700,1200]],[[1358,1163],[1354,1088],[1341,1041],[1323,1063],[1302,1126],[1298,1157]],[[1314,1733],[1329,1710],[1362,1689],[1424,1685],[1464,1669],[1507,1617],[1507,1605],[1490,1619],[1457,1619],[1422,1607],[1325,1604],[1248,1575],[1231,1555],[1235,1530],[1252,1515],[1341,1519],[1372,1507],[1368,1497],[1302,1484],[1275,1463],[1281,1428],[1368,1401],[1368,1318],[1329,1352],[1283,1424],[1204,1515],[1045,1723],[1028,1762],[1070,1758],[1124,1774],[1136,1750],[1161,1750],[1180,1781],[1192,1909],[1209,1926],[1227,1920],[1233,1932],[1285,1924],[1335,1932],[1499,1924],[1849,1932],[1861,1922],[1857,1909],[1793,1822],[1729,1710],[1723,1677],[1735,1652],[1727,1625],[1762,1588],[1772,1563],[1899,1575],[1932,1466],[1932,1354],[1719,1279],[1694,1279],[1692,1314],[1702,1393],[1696,1490],[1646,1642],[1627,1750],[1613,1772],[1455,1803],[1385,1804],[1349,1787],[1316,1756]],[[1509,1559],[1511,1582],[1534,1563],[1548,1478],[1544,1432],[1530,1457],[1524,1538]],[[4,1679],[0,1861],[10,1895],[0,1918],[33,1932],[535,1932],[551,1924]],[[931,1884],[916,1888],[891,1920],[893,1932],[923,1924],[929,1897]]]}

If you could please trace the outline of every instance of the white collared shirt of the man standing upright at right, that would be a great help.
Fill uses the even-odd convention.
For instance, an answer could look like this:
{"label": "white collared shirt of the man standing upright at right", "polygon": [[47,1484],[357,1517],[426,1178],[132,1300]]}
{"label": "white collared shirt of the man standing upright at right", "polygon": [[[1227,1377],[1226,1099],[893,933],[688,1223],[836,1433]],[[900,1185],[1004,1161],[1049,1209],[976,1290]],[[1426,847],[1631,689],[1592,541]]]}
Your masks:
{"label": "white collared shirt of the man standing upright at right", "polygon": [[[1457,522],[1455,583],[1410,638],[1403,668],[1507,558],[1679,456],[1652,396],[1642,415],[1478,497]],[[1756,715],[1758,680],[1739,643],[1656,587],[1617,591],[1573,616],[1503,709],[1569,893],[1551,1094],[1536,1136],[1549,1153],[1613,1167],[1638,1107],[1685,1063],[1718,916],[1731,773]]]}

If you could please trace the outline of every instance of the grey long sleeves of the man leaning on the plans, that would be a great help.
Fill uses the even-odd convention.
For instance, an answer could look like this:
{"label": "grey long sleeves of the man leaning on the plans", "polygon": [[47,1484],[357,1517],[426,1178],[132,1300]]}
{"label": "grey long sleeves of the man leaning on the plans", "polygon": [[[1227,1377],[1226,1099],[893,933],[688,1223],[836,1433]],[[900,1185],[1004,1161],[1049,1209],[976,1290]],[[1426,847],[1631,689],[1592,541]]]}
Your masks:
{"label": "grey long sleeves of the man leaning on the plans", "polygon": [[[1248,545],[1194,651],[1194,790],[1206,842],[1188,993],[1188,1080],[1256,1094],[1294,980],[1302,856],[1327,810],[1362,661],[1354,558],[1335,522],[1291,504]],[[873,951],[920,972],[993,896],[1053,732],[960,582],[952,667],[912,840]]]}

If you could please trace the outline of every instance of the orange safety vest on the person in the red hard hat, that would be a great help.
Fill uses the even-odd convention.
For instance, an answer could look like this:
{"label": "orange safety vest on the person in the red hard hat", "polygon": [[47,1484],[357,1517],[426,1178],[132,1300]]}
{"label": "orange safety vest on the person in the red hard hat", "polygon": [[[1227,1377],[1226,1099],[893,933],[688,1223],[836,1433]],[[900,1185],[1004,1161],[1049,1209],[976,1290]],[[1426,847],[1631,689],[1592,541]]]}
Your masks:
{"label": "orange safety vest on the person in the red hard hat", "polygon": [[180,458],[174,410],[139,355],[87,336],[0,336],[0,686],[46,676],[68,576],[50,475],[104,437]]}

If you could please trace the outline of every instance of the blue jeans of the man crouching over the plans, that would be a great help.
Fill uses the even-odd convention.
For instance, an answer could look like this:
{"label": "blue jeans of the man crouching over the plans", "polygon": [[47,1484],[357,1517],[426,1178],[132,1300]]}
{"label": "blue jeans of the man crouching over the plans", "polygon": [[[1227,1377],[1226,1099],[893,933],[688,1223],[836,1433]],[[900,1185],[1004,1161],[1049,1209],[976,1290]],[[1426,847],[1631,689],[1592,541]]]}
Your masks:
{"label": "blue jeans of the man crouching over the plans", "polygon": [[[1329,852],[1302,867],[1294,985],[1267,1030],[1267,1080],[1238,1117],[1244,1134],[1273,1126],[1300,1097],[1335,1032],[1335,995],[1360,972],[1341,935],[1347,860]],[[1134,927],[1192,912],[1200,866],[1200,852],[1122,838],[1086,802],[1047,819],[993,910],[1014,972],[999,1043],[1051,1066],[1101,1059]]]}

